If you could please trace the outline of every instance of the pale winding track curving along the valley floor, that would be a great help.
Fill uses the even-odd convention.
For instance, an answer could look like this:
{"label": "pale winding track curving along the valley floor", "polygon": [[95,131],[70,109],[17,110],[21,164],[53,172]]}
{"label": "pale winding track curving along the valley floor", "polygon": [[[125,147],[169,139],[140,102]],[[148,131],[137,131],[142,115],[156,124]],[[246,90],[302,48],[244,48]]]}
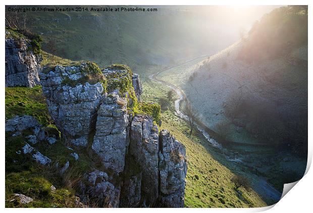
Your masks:
{"label": "pale winding track curving along the valley floor", "polygon": [[[167,67],[159,72],[156,72],[156,73],[153,73],[149,76],[149,78],[153,81],[156,81],[158,83],[161,83],[167,87],[169,87],[170,89],[174,90],[175,93],[178,95],[178,99],[175,100],[175,114],[177,116],[179,116],[180,118],[184,119],[184,120],[188,120],[188,116],[185,115],[181,110],[180,110],[180,103],[184,100],[187,99],[186,95],[184,94],[184,92],[176,87],[174,84],[172,83],[169,83],[167,81],[164,81],[162,79],[159,79],[157,76],[162,73],[162,72],[165,72],[169,69],[172,69],[172,68],[175,68],[175,67],[178,67],[178,66],[181,66],[181,65],[184,65],[184,64],[187,64],[188,62],[191,62],[193,60],[196,60],[196,59],[199,59],[199,58],[202,58],[202,57],[208,57],[208,56],[211,56],[211,55],[204,55],[204,56],[200,56],[200,57],[196,57],[196,58],[193,58],[193,59],[190,59],[190,60],[187,60],[183,63],[180,63],[180,64],[177,64],[177,65],[174,65],[174,66],[170,66],[170,67]],[[225,148],[222,147],[222,145],[220,143],[218,143],[216,140],[214,140],[213,138],[210,137],[210,135],[201,127],[201,124],[198,123],[198,122],[195,122],[195,126],[196,128],[198,129],[198,131],[200,131],[202,133],[202,135],[204,136],[204,138],[210,143],[212,144],[212,146],[222,150]],[[245,145],[249,145],[249,144],[245,144]],[[255,144],[256,145],[256,144]],[[237,162],[237,163],[241,163],[241,159],[238,159],[238,158],[233,158],[233,157],[230,157],[230,156],[225,156],[226,159],[228,159],[229,161],[234,161],[234,162]],[[252,179],[253,180],[253,183],[252,183],[252,186],[254,186],[253,188],[255,188],[259,194],[262,194],[263,196],[266,196],[268,199],[271,199],[273,200],[275,203],[278,202],[281,198],[281,193],[276,190],[273,186],[271,186],[263,177],[256,177],[254,176]]]}

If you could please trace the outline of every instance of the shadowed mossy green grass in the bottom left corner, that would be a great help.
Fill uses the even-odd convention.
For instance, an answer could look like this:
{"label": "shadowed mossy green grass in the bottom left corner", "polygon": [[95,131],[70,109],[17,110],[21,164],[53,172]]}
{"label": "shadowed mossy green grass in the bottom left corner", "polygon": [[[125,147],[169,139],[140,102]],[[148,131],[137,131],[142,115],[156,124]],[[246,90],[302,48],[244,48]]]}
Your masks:
{"label": "shadowed mossy green grass in the bottom left corner", "polygon": [[[60,141],[53,145],[41,141],[34,146],[35,150],[48,156],[53,163],[40,165],[32,159],[31,153],[18,152],[22,150],[25,145],[25,136],[29,134],[27,130],[16,137],[6,133],[6,207],[75,207],[74,187],[69,187],[68,183],[64,182],[55,163],[59,162],[62,165],[70,160],[71,166],[75,166],[75,169],[87,170],[84,166],[86,165],[85,158],[81,155],[82,157],[74,162],[73,157],[70,157],[70,150]],[[77,171],[81,170],[77,169]],[[78,180],[81,175],[66,174],[64,177]],[[51,192],[51,185],[57,188],[55,192]],[[34,201],[21,204],[14,196],[15,193],[24,194]]]}

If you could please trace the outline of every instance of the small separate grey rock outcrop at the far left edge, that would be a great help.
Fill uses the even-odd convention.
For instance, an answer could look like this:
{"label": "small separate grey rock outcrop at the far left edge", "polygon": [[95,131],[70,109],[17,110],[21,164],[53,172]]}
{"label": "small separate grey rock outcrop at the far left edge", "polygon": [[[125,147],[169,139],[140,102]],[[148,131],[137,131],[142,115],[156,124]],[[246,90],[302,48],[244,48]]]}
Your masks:
{"label": "small separate grey rock outcrop at the far left edge", "polygon": [[34,87],[39,84],[40,61],[24,38],[6,39],[6,87]]}

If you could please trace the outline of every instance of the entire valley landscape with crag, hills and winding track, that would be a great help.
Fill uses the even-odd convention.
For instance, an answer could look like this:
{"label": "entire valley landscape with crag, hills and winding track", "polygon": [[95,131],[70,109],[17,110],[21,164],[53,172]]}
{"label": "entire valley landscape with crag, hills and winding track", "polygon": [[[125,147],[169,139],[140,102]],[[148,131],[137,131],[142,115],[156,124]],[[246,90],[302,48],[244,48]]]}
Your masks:
{"label": "entire valley landscape with crag, hills and winding track", "polygon": [[305,7],[74,7],[6,27],[6,206],[263,207],[303,176]]}

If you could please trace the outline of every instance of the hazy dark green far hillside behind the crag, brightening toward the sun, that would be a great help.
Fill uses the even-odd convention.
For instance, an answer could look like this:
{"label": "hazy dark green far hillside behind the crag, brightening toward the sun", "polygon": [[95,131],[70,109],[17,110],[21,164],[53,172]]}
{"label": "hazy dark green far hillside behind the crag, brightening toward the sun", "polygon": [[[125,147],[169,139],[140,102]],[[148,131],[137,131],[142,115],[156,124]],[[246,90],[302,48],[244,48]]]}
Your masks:
{"label": "hazy dark green far hillside behind the crag, brightening toward the sun", "polygon": [[[151,66],[217,52],[239,37],[237,25],[225,27],[217,22],[220,15],[214,7],[153,7],[158,12],[91,12],[91,6],[83,7],[89,11],[28,12],[26,25],[42,35],[46,52],[51,52],[48,42],[53,40],[56,55],[62,58],[91,60],[100,66],[123,63],[139,73]],[[22,21],[23,14],[19,14]]]}

